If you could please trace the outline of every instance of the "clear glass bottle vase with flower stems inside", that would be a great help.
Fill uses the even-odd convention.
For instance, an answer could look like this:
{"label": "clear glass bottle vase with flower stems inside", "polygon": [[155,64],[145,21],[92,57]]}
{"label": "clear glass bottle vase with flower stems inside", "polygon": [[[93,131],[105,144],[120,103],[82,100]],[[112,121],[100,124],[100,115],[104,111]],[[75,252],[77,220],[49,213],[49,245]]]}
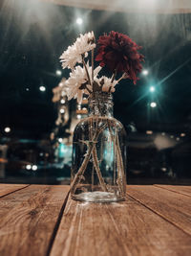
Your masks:
{"label": "clear glass bottle vase with flower stems inside", "polygon": [[113,117],[110,93],[89,98],[89,116],[74,129],[73,199],[113,202],[125,199],[126,132]]}

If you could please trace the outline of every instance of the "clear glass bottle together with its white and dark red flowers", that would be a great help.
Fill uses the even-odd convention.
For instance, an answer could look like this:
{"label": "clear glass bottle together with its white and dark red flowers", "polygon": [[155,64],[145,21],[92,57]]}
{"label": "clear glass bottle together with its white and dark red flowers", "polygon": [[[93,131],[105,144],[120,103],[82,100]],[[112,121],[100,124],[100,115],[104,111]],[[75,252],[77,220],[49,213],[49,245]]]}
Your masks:
{"label": "clear glass bottle together with its white and dark red flowers", "polygon": [[[125,198],[126,143],[124,128],[112,116],[112,93],[123,79],[136,84],[144,57],[128,35],[114,31],[99,36],[97,44],[97,67],[93,32],[80,35],[60,57],[63,69],[72,70],[63,85],[68,99],[81,103],[86,95],[90,110],[74,130],[71,193],[79,200],[118,201]],[[99,76],[102,67],[112,71],[110,78]]]}

